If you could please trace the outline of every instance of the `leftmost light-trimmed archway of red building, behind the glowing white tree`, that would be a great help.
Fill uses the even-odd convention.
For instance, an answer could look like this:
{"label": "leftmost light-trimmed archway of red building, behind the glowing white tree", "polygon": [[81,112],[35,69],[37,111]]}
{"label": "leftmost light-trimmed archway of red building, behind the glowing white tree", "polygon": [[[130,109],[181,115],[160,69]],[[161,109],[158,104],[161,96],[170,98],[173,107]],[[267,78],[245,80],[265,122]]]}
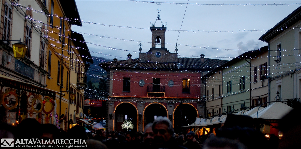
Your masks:
{"label": "leftmost light-trimmed archway of red building, behind the glowing white tree", "polygon": [[[122,131],[121,125],[127,119],[128,121],[132,121],[132,124],[134,125],[134,128],[132,130],[137,130],[137,108],[128,102],[123,102],[118,104],[115,107],[115,125],[114,130],[115,131]],[[137,130],[138,131],[138,130]]]}

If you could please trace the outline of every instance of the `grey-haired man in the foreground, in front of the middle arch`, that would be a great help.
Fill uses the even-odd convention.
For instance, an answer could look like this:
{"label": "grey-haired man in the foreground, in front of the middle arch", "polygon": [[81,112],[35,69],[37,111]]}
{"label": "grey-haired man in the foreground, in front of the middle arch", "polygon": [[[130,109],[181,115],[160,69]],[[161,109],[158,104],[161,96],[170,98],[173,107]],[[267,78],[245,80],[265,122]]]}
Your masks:
{"label": "grey-haired man in the foreground, in front of the middle arch", "polygon": [[154,132],[154,147],[164,149],[185,149],[175,142],[172,123],[167,117],[158,116],[152,126]]}

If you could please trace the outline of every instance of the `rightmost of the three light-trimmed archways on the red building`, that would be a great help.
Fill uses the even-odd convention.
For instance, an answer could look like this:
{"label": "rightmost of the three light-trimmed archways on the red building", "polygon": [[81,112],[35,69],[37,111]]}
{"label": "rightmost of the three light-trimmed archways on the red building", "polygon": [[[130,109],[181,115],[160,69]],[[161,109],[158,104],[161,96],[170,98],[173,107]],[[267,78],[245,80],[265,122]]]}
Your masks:
{"label": "rightmost of the three light-trimmed archways on the red building", "polygon": [[182,126],[187,126],[195,122],[198,112],[192,104],[182,103],[175,108],[173,117],[174,130],[175,132],[179,132]]}

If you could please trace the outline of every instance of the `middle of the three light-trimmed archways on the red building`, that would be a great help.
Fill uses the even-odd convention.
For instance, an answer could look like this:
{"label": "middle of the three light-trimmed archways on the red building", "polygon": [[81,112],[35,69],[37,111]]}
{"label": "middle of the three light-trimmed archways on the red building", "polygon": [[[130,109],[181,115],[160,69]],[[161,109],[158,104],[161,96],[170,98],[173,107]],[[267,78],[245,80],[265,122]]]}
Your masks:
{"label": "middle of the three light-trimmed archways on the red building", "polygon": [[151,103],[147,105],[143,112],[143,128],[148,123],[154,122],[155,118],[158,116],[166,116],[167,117],[167,110],[162,104],[159,103]]}

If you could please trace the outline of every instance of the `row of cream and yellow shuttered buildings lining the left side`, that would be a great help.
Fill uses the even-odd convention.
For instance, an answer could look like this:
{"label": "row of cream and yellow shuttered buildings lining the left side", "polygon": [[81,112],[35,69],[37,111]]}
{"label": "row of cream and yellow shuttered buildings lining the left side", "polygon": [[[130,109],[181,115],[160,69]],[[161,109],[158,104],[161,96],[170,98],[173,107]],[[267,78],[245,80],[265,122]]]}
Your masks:
{"label": "row of cream and yellow shuttered buildings lining the left side", "polygon": [[[75,1],[1,1],[0,118],[67,131],[83,118],[85,72],[93,63]],[[80,123],[79,123],[80,124]]]}

